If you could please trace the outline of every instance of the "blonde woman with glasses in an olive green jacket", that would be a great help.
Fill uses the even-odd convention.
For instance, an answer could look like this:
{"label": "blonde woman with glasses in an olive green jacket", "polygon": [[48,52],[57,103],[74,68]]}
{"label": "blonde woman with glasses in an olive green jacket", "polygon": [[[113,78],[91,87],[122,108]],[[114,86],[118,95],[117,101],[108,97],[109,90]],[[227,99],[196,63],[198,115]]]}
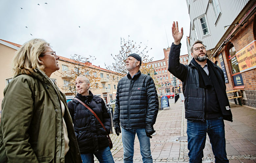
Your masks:
{"label": "blonde woman with glasses in an olive green jacket", "polygon": [[0,163],[82,162],[65,94],[50,79],[58,59],[42,39],[16,52],[2,102]]}

